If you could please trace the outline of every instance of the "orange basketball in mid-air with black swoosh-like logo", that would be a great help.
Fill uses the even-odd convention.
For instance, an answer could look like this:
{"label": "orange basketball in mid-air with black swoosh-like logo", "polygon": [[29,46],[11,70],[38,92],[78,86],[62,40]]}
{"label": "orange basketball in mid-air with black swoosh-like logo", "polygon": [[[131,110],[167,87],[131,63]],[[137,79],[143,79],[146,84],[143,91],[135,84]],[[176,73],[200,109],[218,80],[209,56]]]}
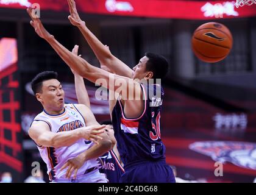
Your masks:
{"label": "orange basketball in mid-air with black swoosh-like logo", "polygon": [[199,26],[192,37],[192,48],[196,57],[204,62],[219,62],[227,57],[233,38],[229,29],[219,23]]}

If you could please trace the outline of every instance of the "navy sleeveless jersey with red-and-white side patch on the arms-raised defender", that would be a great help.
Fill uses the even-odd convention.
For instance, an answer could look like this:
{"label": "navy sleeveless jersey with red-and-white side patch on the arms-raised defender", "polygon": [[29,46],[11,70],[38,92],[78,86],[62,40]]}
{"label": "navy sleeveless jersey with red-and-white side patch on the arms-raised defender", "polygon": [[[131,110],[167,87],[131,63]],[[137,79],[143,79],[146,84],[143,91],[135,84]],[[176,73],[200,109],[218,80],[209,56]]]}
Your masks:
{"label": "navy sleeveless jersey with red-and-white side patch on the arms-raised defender", "polygon": [[141,84],[141,88],[144,110],[140,117],[126,118],[119,99],[112,112],[115,138],[125,169],[143,161],[165,161],[165,146],[160,133],[163,88],[155,84]]}

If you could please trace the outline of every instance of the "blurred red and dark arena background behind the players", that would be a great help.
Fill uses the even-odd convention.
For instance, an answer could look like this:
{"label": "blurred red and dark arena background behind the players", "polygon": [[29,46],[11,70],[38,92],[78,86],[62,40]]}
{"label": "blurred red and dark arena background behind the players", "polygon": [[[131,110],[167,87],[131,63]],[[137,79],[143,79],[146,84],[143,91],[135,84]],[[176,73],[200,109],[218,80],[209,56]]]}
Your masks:
{"label": "blurred red and dark arena background behind the players", "polygon": [[[11,172],[24,182],[32,162],[46,166],[27,135],[42,108],[30,90],[40,71],[57,71],[66,103],[77,102],[74,77],[54,50],[29,24],[26,7],[38,3],[51,34],[82,57],[99,62],[76,27],[68,21],[65,0],[0,0],[0,175]],[[77,0],[91,31],[127,65],[144,52],[162,54],[171,64],[161,117],[166,161],[177,177],[199,182],[253,182],[256,177],[256,4],[236,8],[235,1]],[[233,48],[218,63],[204,63],[191,50],[193,31],[208,21],[226,25]],[[94,98],[96,87],[85,80],[98,121],[109,119],[108,102]],[[216,177],[215,162],[223,163]]]}

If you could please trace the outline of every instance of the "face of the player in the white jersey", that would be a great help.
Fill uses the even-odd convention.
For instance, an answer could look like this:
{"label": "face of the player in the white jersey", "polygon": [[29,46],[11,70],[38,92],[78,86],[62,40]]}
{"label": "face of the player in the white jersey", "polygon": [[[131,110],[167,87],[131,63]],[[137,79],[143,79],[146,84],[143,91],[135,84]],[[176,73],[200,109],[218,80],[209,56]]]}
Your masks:
{"label": "face of the player in the white jersey", "polygon": [[57,79],[44,80],[42,84],[40,101],[48,110],[62,110],[64,106],[64,91]]}

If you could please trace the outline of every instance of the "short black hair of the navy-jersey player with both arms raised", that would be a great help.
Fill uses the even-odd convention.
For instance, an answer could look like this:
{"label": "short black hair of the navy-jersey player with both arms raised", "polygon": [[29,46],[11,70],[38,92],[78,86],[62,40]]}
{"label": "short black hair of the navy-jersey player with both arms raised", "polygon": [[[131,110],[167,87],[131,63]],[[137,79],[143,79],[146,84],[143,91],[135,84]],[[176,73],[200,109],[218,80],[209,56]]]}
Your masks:
{"label": "short black hair of the navy-jersey player with both arms raised", "polygon": [[154,73],[152,79],[163,79],[169,71],[169,64],[165,57],[151,52],[146,52],[145,55],[149,59],[146,63],[146,70]]}

